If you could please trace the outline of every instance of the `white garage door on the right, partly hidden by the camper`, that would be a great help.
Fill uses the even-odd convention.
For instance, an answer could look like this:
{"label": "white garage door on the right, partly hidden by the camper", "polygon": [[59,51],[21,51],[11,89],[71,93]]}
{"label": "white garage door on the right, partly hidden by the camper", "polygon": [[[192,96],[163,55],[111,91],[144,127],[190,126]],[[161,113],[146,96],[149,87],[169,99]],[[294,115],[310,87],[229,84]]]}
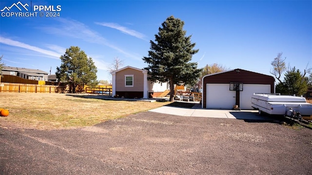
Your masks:
{"label": "white garage door on the right, partly hidden by the camper", "polygon": [[240,109],[253,109],[252,95],[254,93],[270,93],[271,85],[243,85],[243,91],[239,93]]}

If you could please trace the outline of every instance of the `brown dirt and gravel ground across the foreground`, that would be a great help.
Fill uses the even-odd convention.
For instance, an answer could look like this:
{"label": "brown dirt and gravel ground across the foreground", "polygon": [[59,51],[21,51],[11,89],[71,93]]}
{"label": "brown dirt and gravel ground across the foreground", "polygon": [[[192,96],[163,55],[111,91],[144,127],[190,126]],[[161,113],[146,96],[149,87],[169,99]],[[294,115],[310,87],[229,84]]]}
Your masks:
{"label": "brown dirt and gravel ground across the foreground", "polygon": [[0,128],[1,175],[311,175],[312,130],[142,112],[91,127]]}

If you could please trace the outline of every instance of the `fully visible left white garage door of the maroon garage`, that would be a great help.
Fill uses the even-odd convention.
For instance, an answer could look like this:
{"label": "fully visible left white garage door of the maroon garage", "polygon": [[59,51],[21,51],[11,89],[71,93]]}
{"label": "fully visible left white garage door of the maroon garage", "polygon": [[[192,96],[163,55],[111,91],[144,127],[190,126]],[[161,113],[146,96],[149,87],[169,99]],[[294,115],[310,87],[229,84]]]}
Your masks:
{"label": "fully visible left white garage door of the maroon garage", "polygon": [[206,108],[232,109],[236,92],[230,90],[230,84],[207,84]]}

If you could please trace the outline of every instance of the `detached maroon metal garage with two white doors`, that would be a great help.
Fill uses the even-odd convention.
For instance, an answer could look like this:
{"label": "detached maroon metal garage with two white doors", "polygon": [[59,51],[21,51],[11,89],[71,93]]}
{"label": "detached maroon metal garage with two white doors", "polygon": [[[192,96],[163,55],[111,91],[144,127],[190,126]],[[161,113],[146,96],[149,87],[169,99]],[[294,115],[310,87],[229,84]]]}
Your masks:
{"label": "detached maroon metal garage with two white doors", "polygon": [[212,109],[253,109],[254,93],[274,93],[273,76],[248,70],[228,70],[203,77],[202,107]]}

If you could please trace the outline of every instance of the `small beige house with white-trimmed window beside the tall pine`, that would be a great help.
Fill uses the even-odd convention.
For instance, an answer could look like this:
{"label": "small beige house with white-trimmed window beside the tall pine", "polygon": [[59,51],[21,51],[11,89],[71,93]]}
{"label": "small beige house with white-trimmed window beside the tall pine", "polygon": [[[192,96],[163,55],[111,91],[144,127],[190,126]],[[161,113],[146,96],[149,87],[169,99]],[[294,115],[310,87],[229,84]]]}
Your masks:
{"label": "small beige house with white-trimmed window beside the tall pine", "polygon": [[167,83],[152,83],[147,80],[147,70],[131,66],[112,72],[113,97],[151,98],[168,89]]}

